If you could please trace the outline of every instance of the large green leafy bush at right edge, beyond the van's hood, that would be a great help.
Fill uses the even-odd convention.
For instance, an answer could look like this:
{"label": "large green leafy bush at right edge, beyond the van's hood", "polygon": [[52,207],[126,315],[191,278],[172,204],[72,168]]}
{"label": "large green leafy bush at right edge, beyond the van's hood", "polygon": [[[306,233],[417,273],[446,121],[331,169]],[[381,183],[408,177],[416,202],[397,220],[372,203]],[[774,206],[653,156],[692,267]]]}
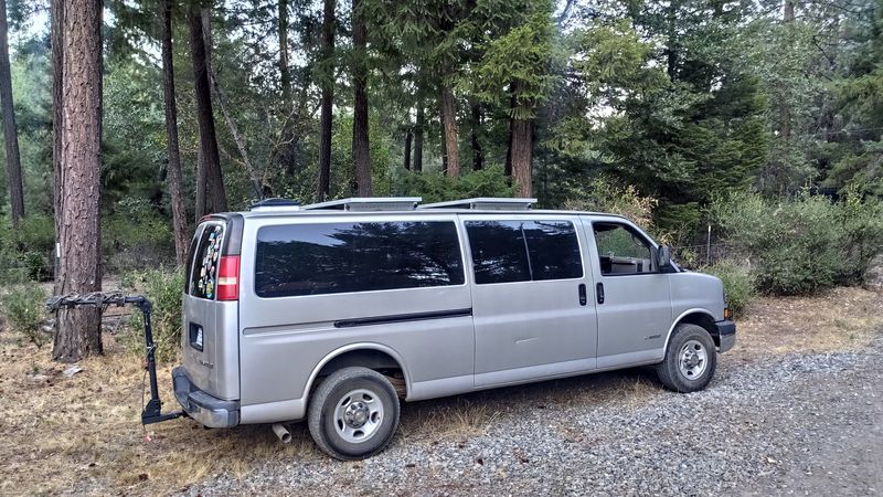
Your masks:
{"label": "large green leafy bush at right edge, beyond the van's hood", "polygon": [[881,203],[849,192],[838,202],[808,192],[780,201],[736,193],[712,202],[710,214],[752,260],[758,288],[774,294],[860,284],[883,250]]}

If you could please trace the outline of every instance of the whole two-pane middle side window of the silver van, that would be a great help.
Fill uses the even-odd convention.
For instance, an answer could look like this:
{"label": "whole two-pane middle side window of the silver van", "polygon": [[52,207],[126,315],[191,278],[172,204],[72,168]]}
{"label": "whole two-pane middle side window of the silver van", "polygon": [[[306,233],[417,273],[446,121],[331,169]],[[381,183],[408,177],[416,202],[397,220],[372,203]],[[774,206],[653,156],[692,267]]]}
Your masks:
{"label": "whole two-pane middle side window of the silver van", "polygon": [[583,276],[570,221],[467,221],[466,232],[479,285]]}

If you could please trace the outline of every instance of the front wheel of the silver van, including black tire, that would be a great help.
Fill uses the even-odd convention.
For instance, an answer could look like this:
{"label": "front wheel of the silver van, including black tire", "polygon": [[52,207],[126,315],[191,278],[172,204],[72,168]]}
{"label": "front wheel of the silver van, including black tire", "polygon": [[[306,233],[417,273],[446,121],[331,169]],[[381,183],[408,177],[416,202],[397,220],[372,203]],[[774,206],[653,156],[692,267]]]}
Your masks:
{"label": "front wheel of the silver van, including black tire", "polygon": [[[699,359],[701,351],[704,351],[704,367]],[[717,349],[711,335],[701,326],[682,324],[674,328],[666,358],[657,364],[656,373],[666,388],[688,393],[704,389],[716,368]]]}

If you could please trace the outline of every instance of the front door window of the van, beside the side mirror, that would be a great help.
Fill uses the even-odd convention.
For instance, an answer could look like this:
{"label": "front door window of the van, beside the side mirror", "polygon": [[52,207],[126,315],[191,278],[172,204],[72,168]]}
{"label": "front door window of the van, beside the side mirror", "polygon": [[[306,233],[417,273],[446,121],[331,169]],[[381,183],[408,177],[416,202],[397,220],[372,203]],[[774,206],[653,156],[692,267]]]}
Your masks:
{"label": "front door window of the van, beside the side mirror", "polygon": [[652,250],[630,226],[618,223],[593,223],[604,276],[653,273]]}

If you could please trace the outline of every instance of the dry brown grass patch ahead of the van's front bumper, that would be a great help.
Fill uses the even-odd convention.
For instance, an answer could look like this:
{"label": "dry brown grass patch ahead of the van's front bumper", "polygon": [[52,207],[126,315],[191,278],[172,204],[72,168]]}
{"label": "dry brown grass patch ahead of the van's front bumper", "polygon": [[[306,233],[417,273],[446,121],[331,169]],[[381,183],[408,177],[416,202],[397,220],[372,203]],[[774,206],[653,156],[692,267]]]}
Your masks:
{"label": "dry brown grass patch ahead of the van's front bumper", "polygon": [[883,294],[848,287],[764,297],[737,326],[737,356],[859,350],[883,329]]}

